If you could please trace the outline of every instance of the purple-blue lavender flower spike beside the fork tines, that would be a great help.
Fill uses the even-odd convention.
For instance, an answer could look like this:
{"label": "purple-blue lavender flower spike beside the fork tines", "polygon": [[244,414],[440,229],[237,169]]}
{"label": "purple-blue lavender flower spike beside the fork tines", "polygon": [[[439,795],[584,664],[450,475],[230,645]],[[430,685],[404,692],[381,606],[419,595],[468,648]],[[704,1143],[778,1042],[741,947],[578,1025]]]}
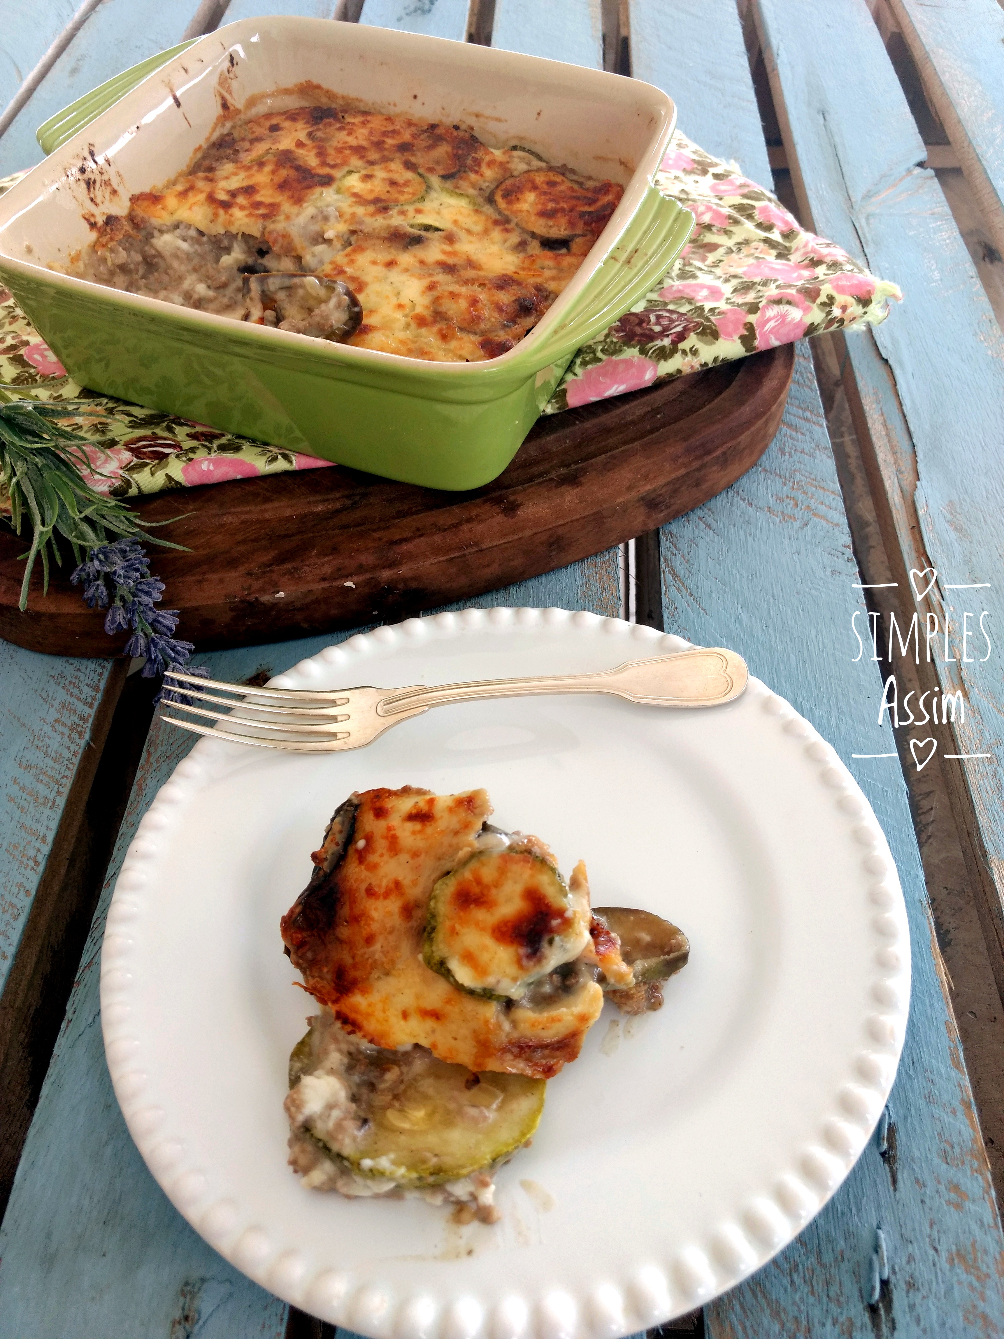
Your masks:
{"label": "purple-blue lavender flower spike beside the fork tines", "polygon": [[[190,641],[174,636],[181,613],[178,609],[157,609],[163,596],[163,581],[150,576],[150,560],[139,540],[115,540],[99,544],[74,570],[70,580],[83,585],[84,603],[91,609],[107,609],[104,631],[131,632],[124,647],[127,656],[146,656],[142,675],[153,679],[169,670],[209,678],[206,665],[190,665],[195,649]],[[181,688],[161,688],[155,702],[189,702]]]}

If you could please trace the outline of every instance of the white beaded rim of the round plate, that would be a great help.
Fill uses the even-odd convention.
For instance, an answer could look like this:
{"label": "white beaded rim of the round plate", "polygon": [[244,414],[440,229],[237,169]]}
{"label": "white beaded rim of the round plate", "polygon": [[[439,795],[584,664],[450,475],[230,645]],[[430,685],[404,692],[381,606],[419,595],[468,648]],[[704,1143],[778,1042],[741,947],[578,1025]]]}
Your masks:
{"label": "white beaded rim of the round plate", "polygon": [[[633,643],[636,652],[669,653],[691,644],[640,624],[565,609],[465,609],[357,633],[325,647],[272,683],[281,688],[312,686],[332,663],[364,657],[379,648],[414,643],[416,636],[463,636],[486,627],[564,627]],[[636,657],[636,656],[632,656]],[[857,1079],[845,1083],[821,1127],[807,1135],[797,1160],[771,1186],[747,1197],[700,1244],[673,1249],[661,1264],[645,1263],[620,1283],[598,1283],[589,1296],[561,1285],[539,1296],[514,1291],[490,1308],[471,1293],[456,1261],[452,1296],[398,1296],[394,1287],[325,1267],[311,1273],[295,1247],[273,1241],[256,1223],[244,1221],[233,1193],[207,1193],[205,1174],[186,1165],[183,1141],[163,1127],[163,1111],[151,1098],[155,1083],[143,1071],[142,1042],[130,1032],[130,1000],[137,988],[131,927],[142,915],[143,889],[155,854],[157,834],[170,830],[177,806],[207,779],[203,763],[213,750],[240,746],[199,739],[178,763],[141,821],[118,876],[102,944],[102,1028],[115,1095],[130,1134],[153,1176],[175,1208],[209,1244],[256,1283],[333,1324],[378,1339],[617,1339],[709,1302],[748,1277],[782,1251],[823,1208],[862,1153],[885,1107],[909,1012],[910,948],[906,908],[896,865],[882,829],[859,786],[837,751],[783,698],[751,678],[747,696],[759,699],[778,728],[803,743],[815,763],[819,785],[851,821],[850,840],[861,848],[869,881],[871,1012],[863,1019]],[[857,848],[855,848],[857,849]],[[432,1212],[432,1210],[431,1210]]]}

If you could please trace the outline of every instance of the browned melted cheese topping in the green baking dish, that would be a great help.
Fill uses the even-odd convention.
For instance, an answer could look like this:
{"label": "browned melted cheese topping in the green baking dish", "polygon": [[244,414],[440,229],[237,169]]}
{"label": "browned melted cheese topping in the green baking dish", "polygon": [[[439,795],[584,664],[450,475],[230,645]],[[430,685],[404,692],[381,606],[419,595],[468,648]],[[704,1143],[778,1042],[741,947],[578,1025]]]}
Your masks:
{"label": "browned melted cheese topping in the green baking dish", "polygon": [[[537,324],[620,195],[614,182],[542,169],[529,150],[489,149],[462,126],[296,107],[232,127],[173,182],[134,195],[127,221],[106,220],[95,253],[119,244],[123,229],[146,238],[190,225],[245,237],[262,244],[269,269],[352,289],[363,320],[348,343],[474,362],[506,352]],[[94,262],[80,272],[123,287]],[[149,274],[143,283],[129,287],[206,305],[151,289]]]}

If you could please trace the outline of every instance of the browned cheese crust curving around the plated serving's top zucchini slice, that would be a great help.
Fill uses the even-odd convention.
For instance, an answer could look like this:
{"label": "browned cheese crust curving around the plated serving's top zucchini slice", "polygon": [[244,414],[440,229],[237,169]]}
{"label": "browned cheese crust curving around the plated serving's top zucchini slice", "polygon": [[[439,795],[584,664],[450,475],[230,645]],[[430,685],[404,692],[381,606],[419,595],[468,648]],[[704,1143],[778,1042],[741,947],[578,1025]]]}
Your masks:
{"label": "browned cheese crust curving around the plated serving's top zucchini slice", "polygon": [[419,1044],[475,1073],[552,1078],[576,1059],[602,1008],[594,981],[529,1008],[459,991],[422,960],[432,885],[474,852],[490,813],[483,790],[352,797],[315,853],[311,885],[282,917],[282,939],[315,999],[375,1046]]}

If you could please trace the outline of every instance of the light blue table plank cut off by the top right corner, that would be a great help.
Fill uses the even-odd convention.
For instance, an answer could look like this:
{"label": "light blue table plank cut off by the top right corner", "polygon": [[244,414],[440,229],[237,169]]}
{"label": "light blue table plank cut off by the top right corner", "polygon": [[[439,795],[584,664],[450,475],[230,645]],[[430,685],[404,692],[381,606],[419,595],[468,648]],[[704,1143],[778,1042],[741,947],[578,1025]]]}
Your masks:
{"label": "light blue table plank cut off by the top right corner", "polygon": [[996,0],[889,7],[1004,254],[1004,12]]}

